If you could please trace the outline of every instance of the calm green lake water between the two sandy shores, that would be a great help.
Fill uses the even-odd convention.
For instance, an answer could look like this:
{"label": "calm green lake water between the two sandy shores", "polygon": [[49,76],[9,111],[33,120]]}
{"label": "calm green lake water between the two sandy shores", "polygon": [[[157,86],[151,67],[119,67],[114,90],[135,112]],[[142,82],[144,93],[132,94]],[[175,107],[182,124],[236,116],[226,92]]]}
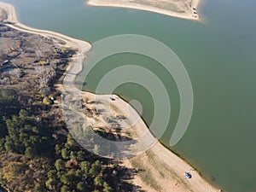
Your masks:
{"label": "calm green lake water between the two sandy shores", "polygon": [[[256,2],[204,0],[205,24],[132,9],[93,8],[83,0],[5,0],[28,26],[95,42],[118,34],[140,34],[168,45],[183,61],[193,84],[194,113],[183,139],[172,148],[207,180],[230,192],[256,190]],[[93,50],[92,50],[93,52]],[[173,80],[141,55],[111,56],[87,79],[85,90],[117,65],[138,62],[170,84],[172,119],[162,143],[168,147],[177,121],[179,96]],[[150,65],[151,63],[151,65]],[[96,75],[95,75],[96,74]],[[152,97],[137,84],[116,92],[143,104],[149,124]]]}

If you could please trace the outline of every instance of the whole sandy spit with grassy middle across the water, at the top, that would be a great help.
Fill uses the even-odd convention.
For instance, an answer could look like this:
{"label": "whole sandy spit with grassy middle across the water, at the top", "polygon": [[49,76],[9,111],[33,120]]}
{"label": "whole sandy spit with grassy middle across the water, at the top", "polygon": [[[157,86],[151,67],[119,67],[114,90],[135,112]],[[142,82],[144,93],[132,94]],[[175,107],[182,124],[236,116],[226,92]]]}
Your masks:
{"label": "whole sandy spit with grassy middle across the water, at the top", "polygon": [[200,0],[89,0],[87,4],[91,6],[140,9],[185,20],[201,20],[197,10],[200,2]]}

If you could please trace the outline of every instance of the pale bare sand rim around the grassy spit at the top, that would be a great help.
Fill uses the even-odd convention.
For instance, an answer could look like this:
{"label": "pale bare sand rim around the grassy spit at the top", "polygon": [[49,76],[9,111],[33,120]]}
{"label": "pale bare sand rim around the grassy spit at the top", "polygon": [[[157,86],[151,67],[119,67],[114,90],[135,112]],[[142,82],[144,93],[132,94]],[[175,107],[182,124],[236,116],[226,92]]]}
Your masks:
{"label": "pale bare sand rim around the grassy spit at the top", "polygon": [[[155,3],[154,0],[148,0],[148,2]],[[148,5],[146,3],[132,3],[128,0],[89,0],[87,2],[90,6],[99,7],[117,7],[126,9],[139,9],[144,11],[150,11],[162,15],[169,15],[177,18],[182,18],[185,20],[201,20],[200,15],[198,15],[197,8],[201,0],[191,0],[191,5],[180,4],[172,0],[166,0],[165,3],[173,3],[177,6],[177,10],[172,9],[161,9],[154,7],[153,5]],[[186,5],[186,6],[185,6]],[[196,14],[195,14],[196,13]]]}

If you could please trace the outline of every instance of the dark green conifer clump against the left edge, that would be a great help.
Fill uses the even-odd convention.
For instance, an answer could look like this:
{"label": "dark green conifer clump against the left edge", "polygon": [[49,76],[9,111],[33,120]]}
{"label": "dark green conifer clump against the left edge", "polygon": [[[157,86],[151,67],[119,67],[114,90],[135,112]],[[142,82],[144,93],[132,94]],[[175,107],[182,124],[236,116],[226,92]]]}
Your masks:
{"label": "dark green conifer clump against the left edge", "polygon": [[15,90],[0,90],[0,149],[32,158],[49,153],[52,131],[39,124]]}

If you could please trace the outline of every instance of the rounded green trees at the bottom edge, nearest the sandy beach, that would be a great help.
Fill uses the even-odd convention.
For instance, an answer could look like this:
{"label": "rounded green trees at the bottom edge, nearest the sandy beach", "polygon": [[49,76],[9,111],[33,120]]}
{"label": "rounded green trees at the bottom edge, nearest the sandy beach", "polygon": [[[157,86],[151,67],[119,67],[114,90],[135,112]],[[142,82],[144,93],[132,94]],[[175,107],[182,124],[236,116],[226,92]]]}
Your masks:
{"label": "rounded green trees at the bottom edge, nearest the sandy beach", "polygon": [[100,160],[84,151],[71,135],[67,136],[66,143],[55,145],[55,154],[55,167],[48,172],[48,189],[113,191],[108,184],[113,166],[108,165],[108,160]]}

